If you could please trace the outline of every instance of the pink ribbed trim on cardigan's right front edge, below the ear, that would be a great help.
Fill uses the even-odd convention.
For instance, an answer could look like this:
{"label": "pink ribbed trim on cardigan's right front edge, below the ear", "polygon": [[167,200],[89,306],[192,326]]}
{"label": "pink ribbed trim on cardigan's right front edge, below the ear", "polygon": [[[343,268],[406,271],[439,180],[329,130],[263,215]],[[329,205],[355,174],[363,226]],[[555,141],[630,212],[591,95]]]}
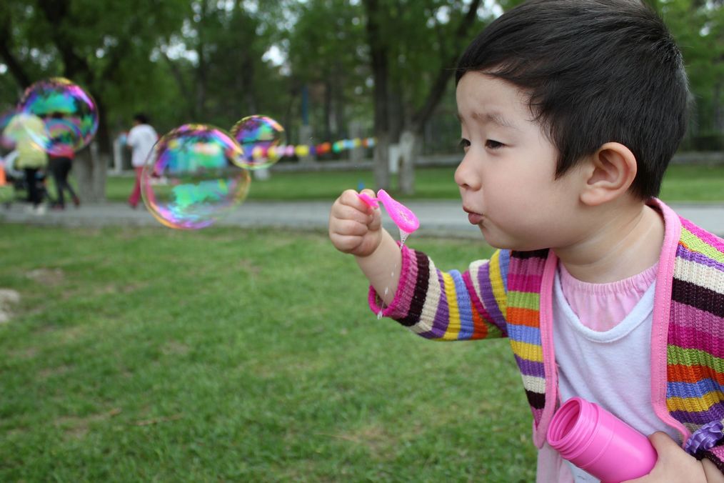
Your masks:
{"label": "pink ribbed trim on cardigan's right front edge, below the ear", "polygon": [[672,209],[657,198],[651,206],[658,208],[664,217],[664,243],[659,256],[659,273],[654,293],[654,314],[651,327],[651,403],[659,418],[681,433],[682,442],[691,436],[689,429],[669,414],[666,408],[666,345],[668,342],[671,286],[673,285],[676,248],[681,238],[681,220]]}

